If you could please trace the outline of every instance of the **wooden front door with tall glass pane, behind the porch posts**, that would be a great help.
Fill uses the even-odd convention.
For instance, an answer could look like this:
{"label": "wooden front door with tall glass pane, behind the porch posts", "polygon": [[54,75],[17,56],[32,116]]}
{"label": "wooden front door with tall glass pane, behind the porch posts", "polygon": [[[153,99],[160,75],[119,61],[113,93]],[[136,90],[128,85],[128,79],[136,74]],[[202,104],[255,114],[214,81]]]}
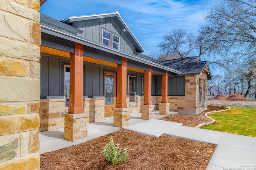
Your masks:
{"label": "wooden front door with tall glass pane, behind the porch posts", "polygon": [[104,72],[105,117],[114,115],[116,107],[116,73]]}

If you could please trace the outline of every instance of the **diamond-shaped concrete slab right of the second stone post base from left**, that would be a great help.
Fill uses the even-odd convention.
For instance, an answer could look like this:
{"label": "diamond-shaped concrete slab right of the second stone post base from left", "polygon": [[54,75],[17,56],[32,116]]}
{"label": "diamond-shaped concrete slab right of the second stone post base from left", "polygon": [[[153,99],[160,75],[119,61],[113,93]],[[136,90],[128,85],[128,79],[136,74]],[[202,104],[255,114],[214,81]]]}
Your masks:
{"label": "diamond-shaped concrete slab right of the second stone post base from left", "polygon": [[130,126],[124,127],[124,129],[131,130],[131,131],[140,133],[142,135],[159,137],[166,131],[179,125],[182,125],[182,123],[152,119],[142,123],[138,123],[136,125],[130,125]]}

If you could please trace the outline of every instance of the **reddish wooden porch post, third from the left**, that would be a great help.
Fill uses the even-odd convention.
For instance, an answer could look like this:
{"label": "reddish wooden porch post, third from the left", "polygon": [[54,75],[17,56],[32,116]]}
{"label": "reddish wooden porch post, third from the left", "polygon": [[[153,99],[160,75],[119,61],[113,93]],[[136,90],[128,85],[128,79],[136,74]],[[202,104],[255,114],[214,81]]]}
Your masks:
{"label": "reddish wooden porch post, third from the left", "polygon": [[144,71],[144,105],[151,105],[151,66]]}

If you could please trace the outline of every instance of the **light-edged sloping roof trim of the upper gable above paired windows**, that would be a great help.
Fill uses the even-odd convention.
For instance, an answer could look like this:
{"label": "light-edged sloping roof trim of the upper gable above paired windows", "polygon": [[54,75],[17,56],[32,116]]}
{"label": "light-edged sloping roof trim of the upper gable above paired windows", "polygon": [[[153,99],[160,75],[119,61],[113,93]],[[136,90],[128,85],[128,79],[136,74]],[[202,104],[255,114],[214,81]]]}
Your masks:
{"label": "light-edged sloping roof trim of the upper gable above paired windows", "polygon": [[126,23],[121,18],[118,12],[106,13],[106,14],[95,14],[95,15],[84,15],[84,16],[72,16],[64,19],[62,22],[70,24],[76,21],[95,20],[95,19],[103,20],[106,18],[111,18],[111,20],[113,20],[121,30],[126,30],[126,31],[123,31],[123,33],[124,35],[126,35],[126,37],[128,37],[128,39],[134,45],[137,52],[142,53],[145,51],[142,45],[140,44],[140,42],[138,41],[138,39],[136,39],[136,37],[134,36],[130,28],[126,25]]}

